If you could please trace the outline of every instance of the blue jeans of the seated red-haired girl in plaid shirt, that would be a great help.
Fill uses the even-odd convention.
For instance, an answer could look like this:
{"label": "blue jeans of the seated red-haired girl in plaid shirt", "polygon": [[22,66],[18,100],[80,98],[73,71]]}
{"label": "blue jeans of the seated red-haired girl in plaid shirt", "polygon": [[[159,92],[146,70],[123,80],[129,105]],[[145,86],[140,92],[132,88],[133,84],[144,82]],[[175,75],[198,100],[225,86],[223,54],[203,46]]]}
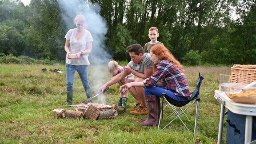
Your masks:
{"label": "blue jeans of the seated red-haired girl in plaid shirt", "polygon": [[145,87],[144,92],[145,92],[145,96],[156,95],[157,97],[160,97],[162,93],[165,93],[167,96],[173,98],[174,100],[178,100],[178,101],[188,100],[187,97],[176,96],[172,91],[160,86]]}

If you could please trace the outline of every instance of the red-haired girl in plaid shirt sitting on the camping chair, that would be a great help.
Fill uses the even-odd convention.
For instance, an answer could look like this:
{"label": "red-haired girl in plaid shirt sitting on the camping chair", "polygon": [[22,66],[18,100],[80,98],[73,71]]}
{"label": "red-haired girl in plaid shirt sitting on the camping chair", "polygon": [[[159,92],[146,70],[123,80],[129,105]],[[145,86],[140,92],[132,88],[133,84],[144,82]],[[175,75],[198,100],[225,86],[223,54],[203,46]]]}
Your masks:
{"label": "red-haired girl in plaid shirt sitting on the camping chair", "polygon": [[151,60],[154,63],[154,73],[143,82],[125,84],[122,88],[132,86],[145,87],[145,100],[148,108],[148,117],[139,121],[142,125],[157,125],[160,115],[160,100],[162,93],[175,100],[188,100],[190,92],[188,80],[184,74],[183,66],[172,56],[164,45],[156,44],[150,50]]}

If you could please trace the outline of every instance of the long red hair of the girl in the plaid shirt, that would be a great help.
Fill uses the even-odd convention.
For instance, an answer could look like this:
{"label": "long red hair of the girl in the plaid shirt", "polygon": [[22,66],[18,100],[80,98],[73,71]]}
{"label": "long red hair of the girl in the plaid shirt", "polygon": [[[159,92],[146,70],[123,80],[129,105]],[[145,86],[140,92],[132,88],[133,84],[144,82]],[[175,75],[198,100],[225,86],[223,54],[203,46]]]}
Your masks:
{"label": "long red hair of the girl in the plaid shirt", "polygon": [[[174,56],[171,54],[171,52],[167,48],[165,48],[164,45],[156,44],[151,48],[150,52],[155,54],[158,57],[159,60],[169,60],[170,62],[175,64],[178,68],[180,68],[180,70],[182,70],[182,72],[184,73],[183,66],[180,64],[180,62],[178,60],[176,60],[174,58]],[[153,69],[154,69],[154,72],[155,72],[156,71],[156,64],[154,64]]]}

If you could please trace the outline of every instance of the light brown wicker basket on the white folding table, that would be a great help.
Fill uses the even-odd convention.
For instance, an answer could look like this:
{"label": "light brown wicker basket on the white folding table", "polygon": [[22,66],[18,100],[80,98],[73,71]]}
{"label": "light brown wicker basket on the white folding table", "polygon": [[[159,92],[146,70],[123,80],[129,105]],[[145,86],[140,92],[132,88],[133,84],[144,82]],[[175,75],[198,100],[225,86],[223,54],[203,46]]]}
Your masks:
{"label": "light brown wicker basket on the white folding table", "polygon": [[231,68],[231,82],[248,84],[256,81],[256,65],[234,64]]}

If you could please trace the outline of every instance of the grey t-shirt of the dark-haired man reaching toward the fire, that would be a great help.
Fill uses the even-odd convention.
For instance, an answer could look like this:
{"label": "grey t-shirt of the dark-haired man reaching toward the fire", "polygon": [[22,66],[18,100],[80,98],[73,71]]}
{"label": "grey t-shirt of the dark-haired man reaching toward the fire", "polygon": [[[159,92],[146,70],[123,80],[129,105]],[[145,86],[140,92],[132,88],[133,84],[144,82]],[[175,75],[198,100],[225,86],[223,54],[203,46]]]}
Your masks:
{"label": "grey t-shirt of the dark-haired man reaching toward the fire", "polygon": [[148,52],[145,52],[140,64],[135,64],[133,61],[130,61],[127,66],[131,67],[133,70],[144,73],[144,68],[152,68],[152,60],[150,60],[150,54]]}

